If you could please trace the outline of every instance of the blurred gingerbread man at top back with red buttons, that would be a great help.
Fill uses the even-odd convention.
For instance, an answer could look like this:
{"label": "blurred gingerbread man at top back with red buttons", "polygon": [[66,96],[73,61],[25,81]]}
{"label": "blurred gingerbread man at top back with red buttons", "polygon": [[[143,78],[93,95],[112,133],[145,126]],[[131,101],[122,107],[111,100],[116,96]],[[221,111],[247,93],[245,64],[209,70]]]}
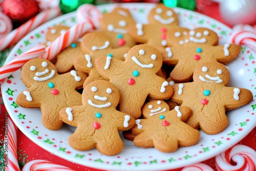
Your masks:
{"label": "blurred gingerbread man at top back with red buttons", "polygon": [[158,4],[148,14],[148,22],[134,24],[128,33],[140,44],[151,45],[162,53],[167,46],[167,33],[178,26],[178,16],[164,4]]}

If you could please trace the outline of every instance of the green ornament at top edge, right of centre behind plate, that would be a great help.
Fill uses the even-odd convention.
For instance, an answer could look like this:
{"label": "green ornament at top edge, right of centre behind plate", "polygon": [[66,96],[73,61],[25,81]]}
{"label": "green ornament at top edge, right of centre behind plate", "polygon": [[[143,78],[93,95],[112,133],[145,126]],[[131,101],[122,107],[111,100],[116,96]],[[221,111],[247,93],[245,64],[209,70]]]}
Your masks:
{"label": "green ornament at top edge, right of centre behind plate", "polygon": [[180,7],[194,11],[196,8],[196,0],[163,0],[166,7]]}

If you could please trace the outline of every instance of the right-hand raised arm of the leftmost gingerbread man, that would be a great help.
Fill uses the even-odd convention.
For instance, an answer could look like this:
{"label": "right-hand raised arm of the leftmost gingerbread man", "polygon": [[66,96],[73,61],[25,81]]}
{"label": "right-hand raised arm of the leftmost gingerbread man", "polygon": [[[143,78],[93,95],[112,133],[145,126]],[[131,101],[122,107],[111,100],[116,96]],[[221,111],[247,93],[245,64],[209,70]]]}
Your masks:
{"label": "right-hand raised arm of the leftmost gingerbread man", "polygon": [[60,77],[71,82],[76,89],[79,89],[83,86],[83,81],[86,80],[87,75],[80,71],[71,70],[66,74],[60,75]]}

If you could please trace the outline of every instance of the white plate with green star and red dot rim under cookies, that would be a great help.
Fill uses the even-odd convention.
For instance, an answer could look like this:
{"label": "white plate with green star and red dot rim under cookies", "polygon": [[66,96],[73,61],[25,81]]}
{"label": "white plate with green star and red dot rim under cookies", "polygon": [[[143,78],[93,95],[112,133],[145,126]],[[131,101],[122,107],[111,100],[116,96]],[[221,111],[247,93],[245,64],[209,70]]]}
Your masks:
{"label": "white plate with green star and red dot rim under cookies", "polygon": [[[135,20],[147,23],[147,14],[155,4],[124,4],[130,9]],[[107,12],[114,5],[98,6],[100,11]],[[183,27],[207,27],[218,33],[219,44],[223,45],[231,33],[231,29],[217,20],[202,14],[175,8],[179,13],[179,22]],[[31,49],[40,42],[45,42],[48,27],[53,25],[73,26],[76,24],[75,13],[62,15],[35,29],[25,36],[11,51],[7,61]],[[26,87],[20,79],[20,70],[2,83],[2,94],[7,110],[18,128],[33,142],[52,154],[89,167],[111,170],[159,170],[173,169],[197,163],[214,157],[243,139],[256,123],[256,53],[242,47],[239,57],[228,65],[231,82],[230,87],[242,87],[252,91],[253,101],[240,109],[227,112],[229,125],[225,131],[217,135],[206,135],[201,132],[200,141],[190,147],[179,148],[174,153],[161,153],[155,148],[143,149],[135,147],[133,142],[124,141],[121,153],[105,156],[96,149],[87,152],[74,150],[67,142],[75,128],[64,125],[58,131],[47,130],[41,123],[39,109],[25,109],[15,103],[16,96]],[[6,62],[7,62],[6,61]]]}

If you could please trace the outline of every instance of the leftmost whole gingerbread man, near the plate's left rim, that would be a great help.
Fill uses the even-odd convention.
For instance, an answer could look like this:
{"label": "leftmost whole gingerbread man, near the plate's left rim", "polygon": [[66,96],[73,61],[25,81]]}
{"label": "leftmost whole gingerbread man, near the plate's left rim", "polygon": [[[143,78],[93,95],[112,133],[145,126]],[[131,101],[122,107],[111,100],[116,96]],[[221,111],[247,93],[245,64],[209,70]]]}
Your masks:
{"label": "leftmost whole gingerbread man, near the plate's left rim", "polygon": [[31,59],[22,68],[22,81],[27,90],[17,96],[16,102],[24,108],[40,108],[41,121],[49,130],[58,130],[62,125],[58,112],[67,106],[81,104],[81,88],[86,75],[72,70],[58,75],[49,60]]}

